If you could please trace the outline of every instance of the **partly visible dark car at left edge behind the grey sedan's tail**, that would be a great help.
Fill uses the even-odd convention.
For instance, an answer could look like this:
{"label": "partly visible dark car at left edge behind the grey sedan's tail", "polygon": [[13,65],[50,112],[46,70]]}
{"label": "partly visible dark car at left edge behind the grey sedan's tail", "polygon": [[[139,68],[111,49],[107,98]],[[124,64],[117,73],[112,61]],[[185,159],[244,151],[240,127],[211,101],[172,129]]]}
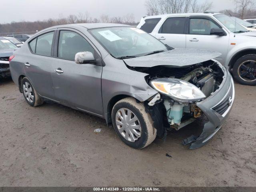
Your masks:
{"label": "partly visible dark car at left edge behind the grey sedan's tail", "polygon": [[9,57],[18,46],[6,38],[0,37],[0,78],[10,77]]}

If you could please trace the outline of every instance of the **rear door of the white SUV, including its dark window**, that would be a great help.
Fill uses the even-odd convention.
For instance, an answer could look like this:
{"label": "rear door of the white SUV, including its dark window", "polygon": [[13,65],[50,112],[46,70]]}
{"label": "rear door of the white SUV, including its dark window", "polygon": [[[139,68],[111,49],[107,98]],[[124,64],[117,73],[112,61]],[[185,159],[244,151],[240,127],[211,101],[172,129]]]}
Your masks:
{"label": "rear door of the white SUV, including its dark window", "polygon": [[186,22],[186,17],[167,18],[155,36],[173,48],[186,48]]}

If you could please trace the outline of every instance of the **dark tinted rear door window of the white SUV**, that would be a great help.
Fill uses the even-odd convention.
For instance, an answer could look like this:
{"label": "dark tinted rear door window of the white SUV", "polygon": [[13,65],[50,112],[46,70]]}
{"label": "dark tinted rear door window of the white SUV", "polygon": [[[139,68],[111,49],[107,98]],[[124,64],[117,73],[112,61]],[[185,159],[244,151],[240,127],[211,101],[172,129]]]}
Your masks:
{"label": "dark tinted rear door window of the white SUV", "polygon": [[159,33],[185,34],[186,18],[168,18],[159,30]]}

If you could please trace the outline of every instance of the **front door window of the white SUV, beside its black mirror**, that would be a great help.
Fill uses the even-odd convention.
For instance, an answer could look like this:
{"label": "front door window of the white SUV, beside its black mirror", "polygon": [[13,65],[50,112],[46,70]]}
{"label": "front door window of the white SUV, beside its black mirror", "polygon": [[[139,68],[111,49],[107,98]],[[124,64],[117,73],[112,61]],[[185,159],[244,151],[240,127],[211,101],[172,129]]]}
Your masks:
{"label": "front door window of the white SUV, beside its black mirror", "polygon": [[212,28],[219,28],[208,19],[190,19],[189,34],[210,35]]}

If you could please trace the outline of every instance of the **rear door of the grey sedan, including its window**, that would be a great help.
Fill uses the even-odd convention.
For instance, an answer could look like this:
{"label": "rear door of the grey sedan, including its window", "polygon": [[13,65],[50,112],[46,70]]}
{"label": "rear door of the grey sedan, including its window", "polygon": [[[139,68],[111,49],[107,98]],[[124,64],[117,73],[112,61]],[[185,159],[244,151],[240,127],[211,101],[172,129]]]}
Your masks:
{"label": "rear door of the grey sedan, including its window", "polygon": [[40,95],[50,99],[54,98],[51,65],[55,34],[52,30],[37,36],[28,42],[30,52],[22,56],[26,76]]}

